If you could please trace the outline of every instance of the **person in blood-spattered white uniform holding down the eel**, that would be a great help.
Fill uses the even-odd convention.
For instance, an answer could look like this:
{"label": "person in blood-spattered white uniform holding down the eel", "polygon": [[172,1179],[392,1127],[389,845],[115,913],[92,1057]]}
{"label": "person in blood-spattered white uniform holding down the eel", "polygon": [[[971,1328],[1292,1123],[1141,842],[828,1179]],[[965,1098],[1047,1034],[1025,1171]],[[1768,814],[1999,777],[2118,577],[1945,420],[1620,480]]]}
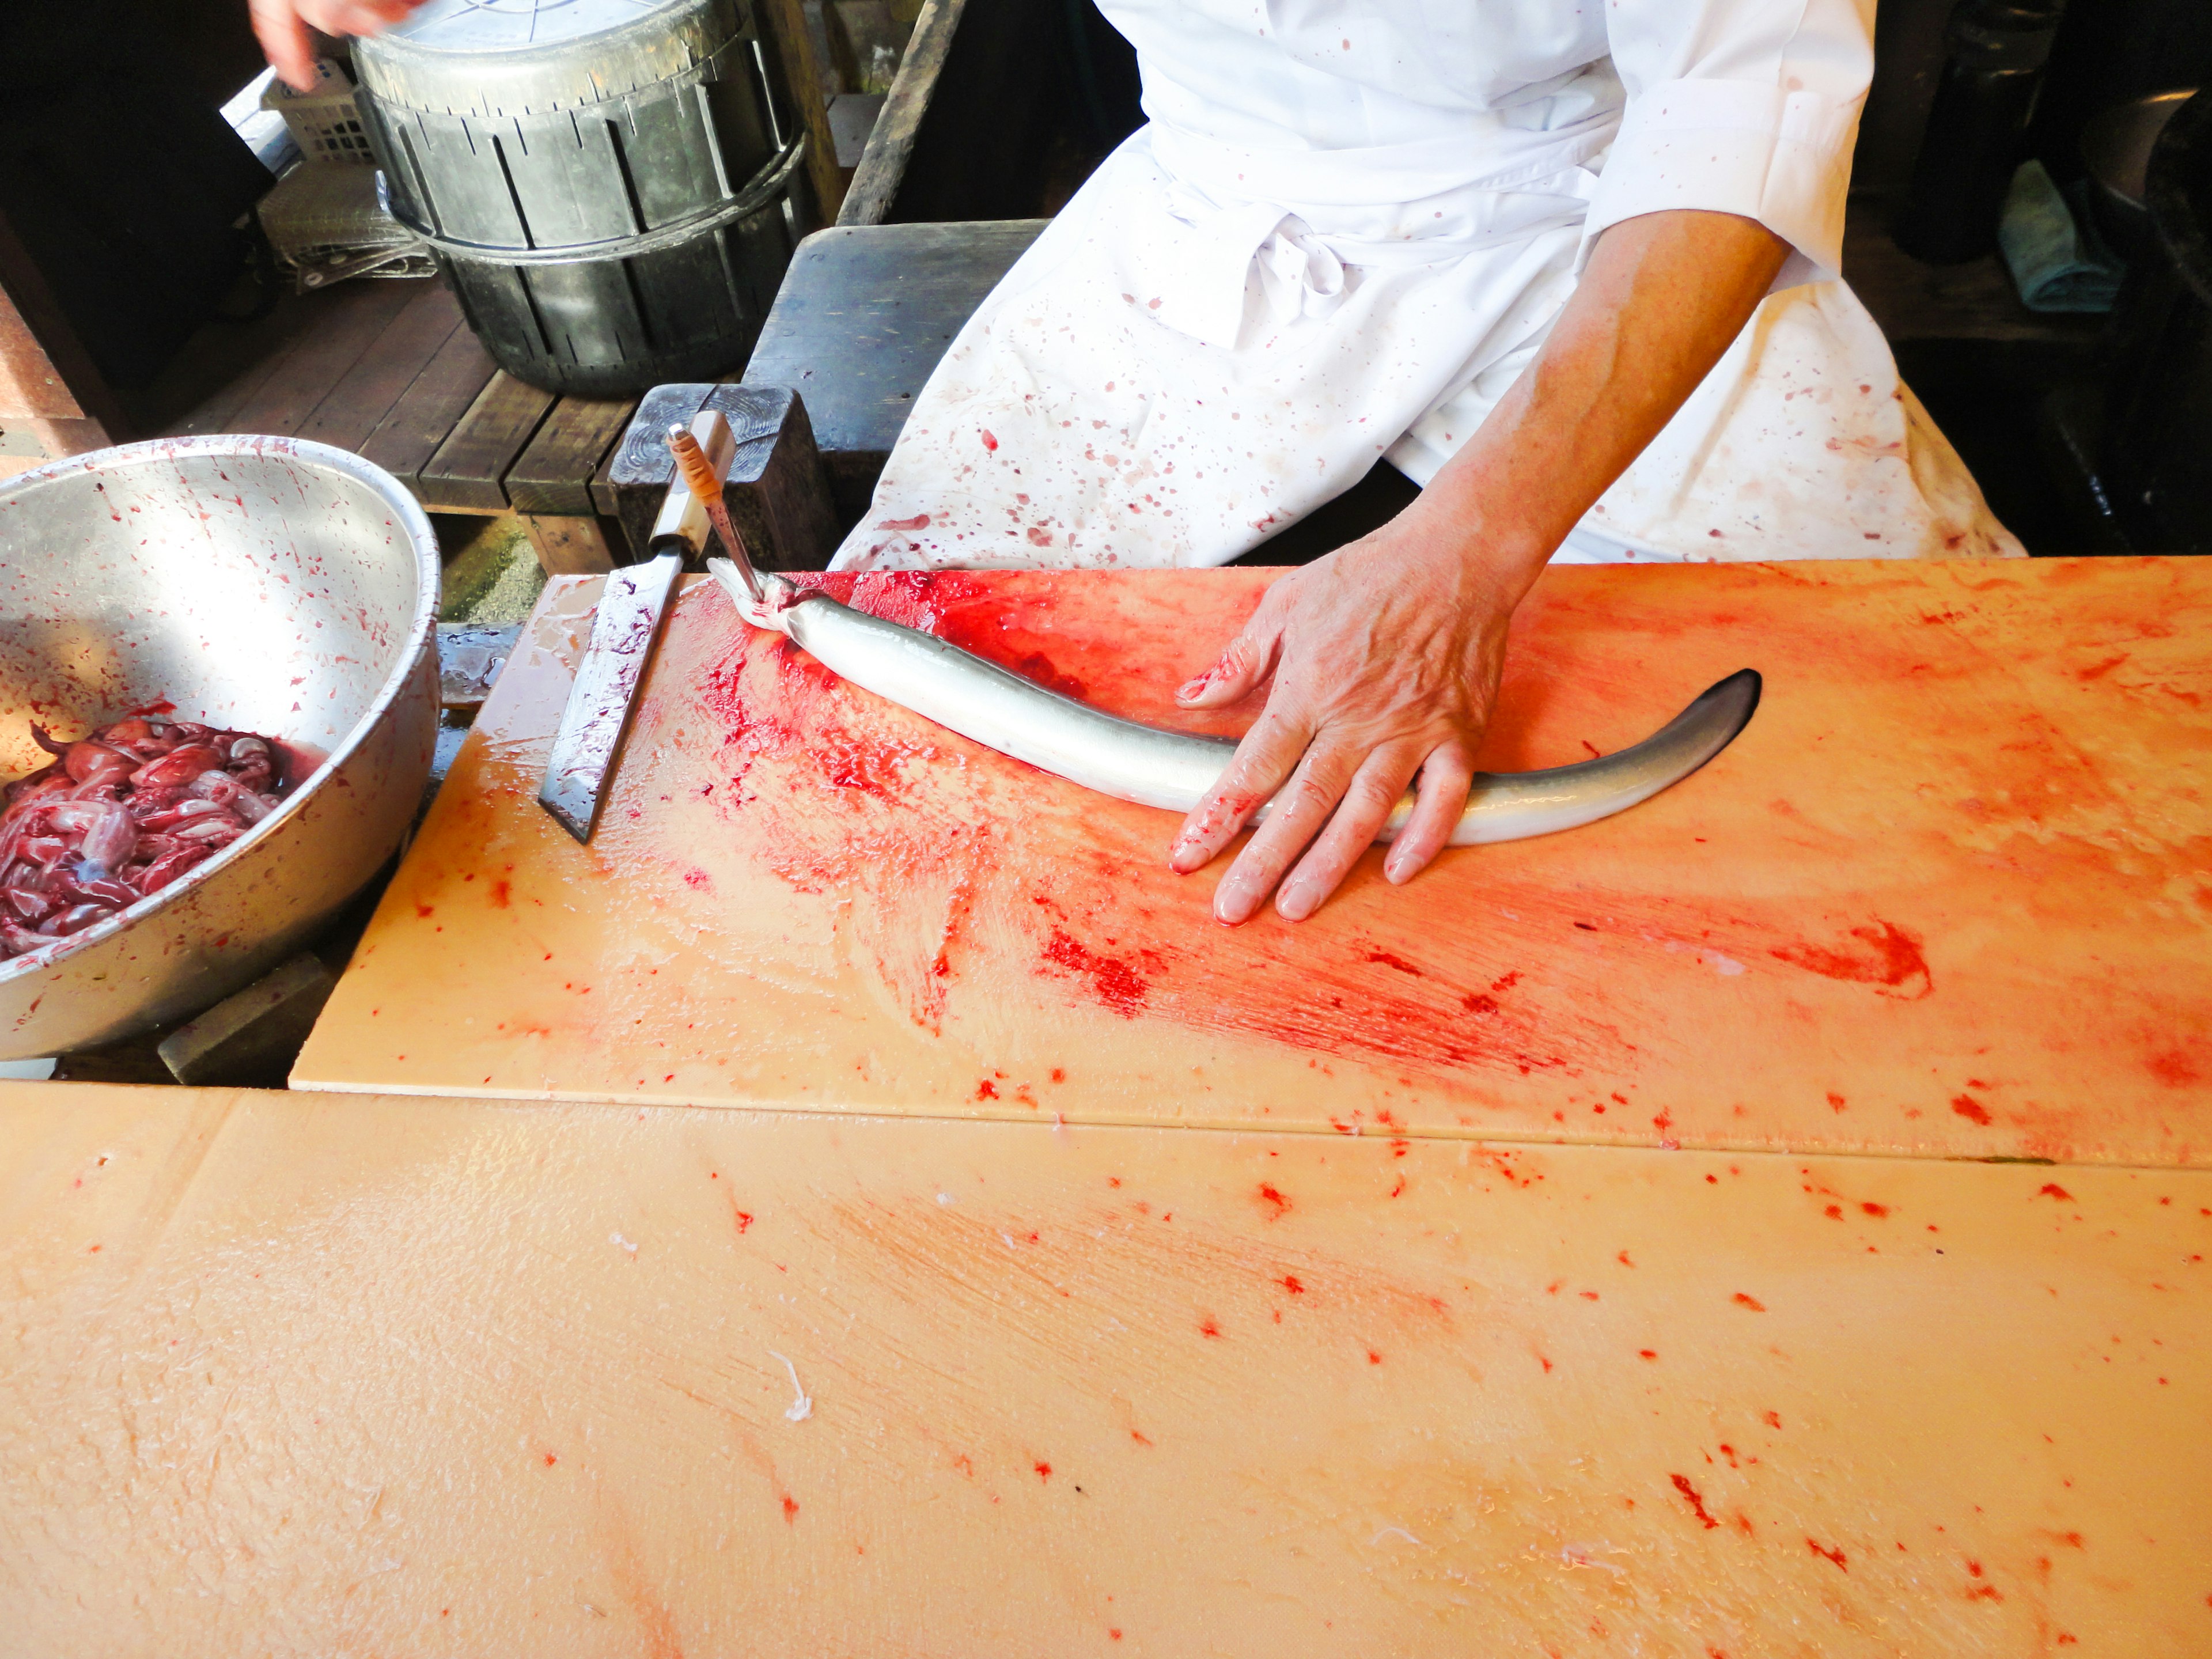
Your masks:
{"label": "person in blood-spattered white uniform holding down the eel", "polygon": [[[257,0],[265,40],[292,4],[403,0]],[[1383,874],[1436,858],[1551,560],[2022,551],[1838,279],[1874,0],[1102,9],[1150,119],[953,341],[834,564],[1223,564],[1378,460],[1420,484],[1179,692],[1259,714],[1172,867],[1279,799],[1223,922],[1310,916],[1409,785]]]}

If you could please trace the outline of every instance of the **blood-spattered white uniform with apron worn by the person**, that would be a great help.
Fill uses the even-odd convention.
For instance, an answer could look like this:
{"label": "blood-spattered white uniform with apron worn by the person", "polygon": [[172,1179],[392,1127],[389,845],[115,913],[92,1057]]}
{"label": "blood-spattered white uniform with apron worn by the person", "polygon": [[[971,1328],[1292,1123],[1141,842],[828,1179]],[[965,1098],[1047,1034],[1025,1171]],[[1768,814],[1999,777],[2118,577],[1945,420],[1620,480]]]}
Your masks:
{"label": "blood-spattered white uniform with apron worn by the person", "polygon": [[1150,117],[960,330],[836,568],[1199,566],[1436,476],[1608,226],[1790,248],[1562,560],[2017,555],[1838,279],[1874,0],[1104,0]]}

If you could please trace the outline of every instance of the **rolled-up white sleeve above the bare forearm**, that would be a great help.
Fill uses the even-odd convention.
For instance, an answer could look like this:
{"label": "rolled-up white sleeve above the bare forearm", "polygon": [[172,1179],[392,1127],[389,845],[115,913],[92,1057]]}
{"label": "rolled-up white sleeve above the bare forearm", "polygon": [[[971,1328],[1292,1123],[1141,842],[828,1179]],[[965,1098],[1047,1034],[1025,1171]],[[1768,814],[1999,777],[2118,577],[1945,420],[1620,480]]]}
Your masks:
{"label": "rolled-up white sleeve above the bare forearm", "polygon": [[1794,248],[1776,288],[1843,268],[1874,0],[1606,0],[1628,93],[1582,252],[1621,219],[1701,208]]}

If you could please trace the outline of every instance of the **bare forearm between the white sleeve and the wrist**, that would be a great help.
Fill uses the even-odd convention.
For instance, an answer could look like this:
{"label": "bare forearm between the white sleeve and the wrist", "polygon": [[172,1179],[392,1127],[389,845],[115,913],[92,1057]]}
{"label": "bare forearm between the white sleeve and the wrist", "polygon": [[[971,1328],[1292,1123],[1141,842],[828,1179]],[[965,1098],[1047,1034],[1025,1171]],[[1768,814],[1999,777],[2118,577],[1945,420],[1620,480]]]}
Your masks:
{"label": "bare forearm between the white sleeve and the wrist", "polygon": [[1787,254],[1772,230],[1725,212],[1606,230],[1535,363],[1413,511],[1502,586],[1526,588],[1719,363]]}

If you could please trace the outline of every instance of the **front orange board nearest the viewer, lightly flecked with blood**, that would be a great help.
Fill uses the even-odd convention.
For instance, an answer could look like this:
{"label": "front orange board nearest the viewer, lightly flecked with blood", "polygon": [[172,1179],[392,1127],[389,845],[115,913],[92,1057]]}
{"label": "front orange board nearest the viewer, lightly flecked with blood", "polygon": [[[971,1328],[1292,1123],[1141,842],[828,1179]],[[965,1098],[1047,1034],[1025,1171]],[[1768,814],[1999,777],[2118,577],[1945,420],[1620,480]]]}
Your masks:
{"label": "front orange board nearest the viewer, lightly flecked with blood", "polygon": [[2208,1250],[2201,1170],[15,1086],[4,1646],[2179,1659]]}

